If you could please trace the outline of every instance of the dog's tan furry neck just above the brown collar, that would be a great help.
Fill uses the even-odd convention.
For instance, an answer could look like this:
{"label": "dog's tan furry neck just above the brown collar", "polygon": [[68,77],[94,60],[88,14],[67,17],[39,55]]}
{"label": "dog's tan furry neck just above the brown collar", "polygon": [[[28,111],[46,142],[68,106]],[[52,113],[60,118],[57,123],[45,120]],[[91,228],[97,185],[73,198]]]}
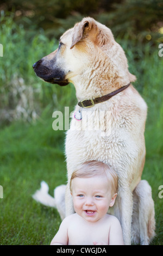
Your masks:
{"label": "dog's tan furry neck just above the brown collar", "polygon": [[92,66],[72,79],[78,101],[112,93],[130,82],[128,69],[121,74],[121,70],[117,70],[108,58],[103,63],[99,62],[98,66],[97,63]]}

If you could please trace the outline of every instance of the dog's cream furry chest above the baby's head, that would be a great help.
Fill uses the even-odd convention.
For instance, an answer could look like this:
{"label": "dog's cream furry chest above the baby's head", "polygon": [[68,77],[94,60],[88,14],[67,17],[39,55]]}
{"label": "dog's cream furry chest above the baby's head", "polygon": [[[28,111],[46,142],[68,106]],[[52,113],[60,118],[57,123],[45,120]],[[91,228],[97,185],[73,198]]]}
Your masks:
{"label": "dog's cream furry chest above the baby's head", "polygon": [[124,120],[109,111],[87,112],[79,121],[72,118],[66,136],[67,168],[73,171],[84,161],[98,160],[122,169],[131,149],[129,136]]}

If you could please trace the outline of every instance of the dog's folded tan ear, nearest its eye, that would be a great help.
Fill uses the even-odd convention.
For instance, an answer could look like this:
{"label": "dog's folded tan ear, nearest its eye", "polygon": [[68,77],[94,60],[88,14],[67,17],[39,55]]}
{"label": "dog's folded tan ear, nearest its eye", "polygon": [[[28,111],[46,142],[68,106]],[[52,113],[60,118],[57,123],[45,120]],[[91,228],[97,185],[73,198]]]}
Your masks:
{"label": "dog's folded tan ear, nearest its eye", "polygon": [[86,32],[89,32],[92,28],[91,18],[83,19],[80,23],[77,23],[74,26],[73,34],[72,34],[72,44],[70,49],[74,47],[83,37]]}

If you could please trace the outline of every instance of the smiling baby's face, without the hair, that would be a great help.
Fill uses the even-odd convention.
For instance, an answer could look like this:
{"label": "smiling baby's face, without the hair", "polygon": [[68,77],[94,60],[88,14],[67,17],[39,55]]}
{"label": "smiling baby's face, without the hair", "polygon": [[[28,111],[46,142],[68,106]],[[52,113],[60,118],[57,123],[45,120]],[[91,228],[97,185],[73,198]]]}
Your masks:
{"label": "smiling baby's face, without the hair", "polygon": [[115,202],[105,176],[74,178],[72,180],[74,210],[86,221],[101,219]]}

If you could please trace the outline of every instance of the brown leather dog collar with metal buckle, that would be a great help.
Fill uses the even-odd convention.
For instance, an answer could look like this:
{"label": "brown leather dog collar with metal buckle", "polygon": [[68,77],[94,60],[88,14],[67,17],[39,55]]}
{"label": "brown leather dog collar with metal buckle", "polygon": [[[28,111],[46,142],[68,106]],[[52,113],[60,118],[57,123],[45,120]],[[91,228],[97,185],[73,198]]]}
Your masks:
{"label": "brown leather dog collar with metal buckle", "polygon": [[127,87],[129,87],[130,83],[127,84],[127,86],[123,86],[117,90],[115,90],[114,92],[112,93],[109,93],[109,94],[106,94],[104,96],[101,96],[101,97],[97,97],[95,99],[89,99],[89,100],[81,100],[78,102],[78,105],[80,107],[84,107],[84,108],[87,108],[87,107],[93,107],[95,104],[97,103],[100,103],[100,102],[103,102],[103,101],[106,101],[106,100],[109,100],[112,96],[122,92],[122,90],[126,89]]}

